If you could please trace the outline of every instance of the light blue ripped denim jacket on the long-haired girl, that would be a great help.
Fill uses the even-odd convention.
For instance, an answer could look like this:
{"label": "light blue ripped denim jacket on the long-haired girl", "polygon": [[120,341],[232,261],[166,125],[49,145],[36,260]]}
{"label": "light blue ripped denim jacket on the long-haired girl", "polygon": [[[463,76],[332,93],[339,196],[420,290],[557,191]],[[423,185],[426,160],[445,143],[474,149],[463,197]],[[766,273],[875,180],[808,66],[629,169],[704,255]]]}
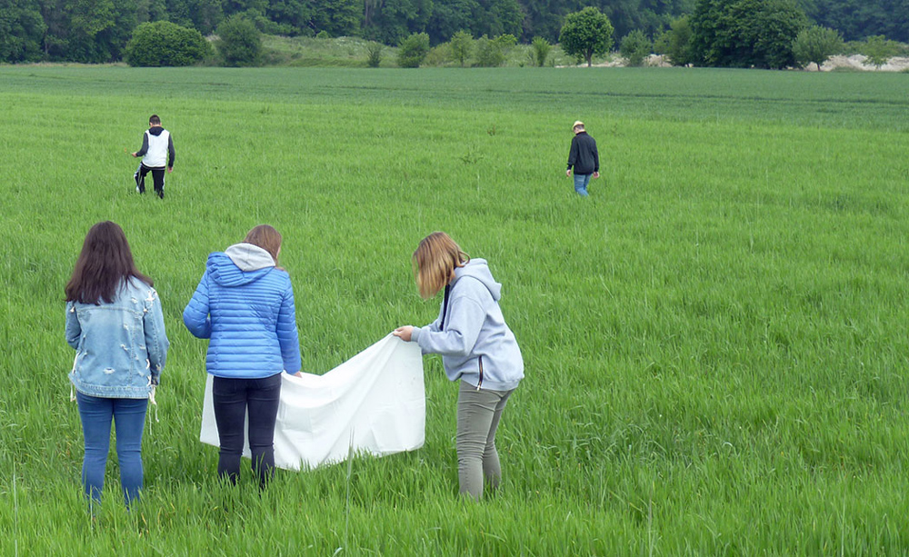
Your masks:
{"label": "light blue ripped denim jacket on the long-haired girl", "polygon": [[69,379],[79,393],[148,398],[165,367],[167,335],[155,289],[132,278],[112,303],[66,303]]}

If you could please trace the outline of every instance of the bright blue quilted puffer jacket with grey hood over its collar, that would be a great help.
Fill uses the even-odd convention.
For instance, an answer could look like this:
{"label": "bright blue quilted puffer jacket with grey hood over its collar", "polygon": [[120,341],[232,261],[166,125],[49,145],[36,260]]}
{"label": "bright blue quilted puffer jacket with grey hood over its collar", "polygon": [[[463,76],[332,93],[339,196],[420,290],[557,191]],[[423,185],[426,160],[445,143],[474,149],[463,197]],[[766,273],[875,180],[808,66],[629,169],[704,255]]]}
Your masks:
{"label": "bright blue quilted puffer jacket with grey hood over its collar", "polygon": [[256,245],[235,244],[208,256],[183,323],[211,339],[205,367],[212,375],[261,379],[300,371],[290,276]]}

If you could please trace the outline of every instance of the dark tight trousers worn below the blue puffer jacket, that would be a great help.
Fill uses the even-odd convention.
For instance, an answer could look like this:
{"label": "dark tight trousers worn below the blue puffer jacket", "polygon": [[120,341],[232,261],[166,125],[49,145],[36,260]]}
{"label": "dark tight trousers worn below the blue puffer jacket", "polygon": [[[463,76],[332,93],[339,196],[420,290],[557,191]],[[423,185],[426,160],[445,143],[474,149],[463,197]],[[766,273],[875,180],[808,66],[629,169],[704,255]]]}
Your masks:
{"label": "dark tight trousers worn below the blue puffer jacket", "polygon": [[281,396],[281,373],[264,379],[215,377],[212,398],[221,442],[218,475],[236,483],[243,455],[244,425],[249,413],[249,450],[259,485],[275,475],[275,420]]}

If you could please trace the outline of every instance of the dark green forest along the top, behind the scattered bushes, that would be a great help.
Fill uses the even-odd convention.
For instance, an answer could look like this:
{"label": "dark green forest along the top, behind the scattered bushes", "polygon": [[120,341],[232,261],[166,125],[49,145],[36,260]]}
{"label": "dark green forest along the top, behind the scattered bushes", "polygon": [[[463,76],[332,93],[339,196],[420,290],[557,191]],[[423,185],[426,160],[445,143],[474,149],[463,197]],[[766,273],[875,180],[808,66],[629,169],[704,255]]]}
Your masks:
{"label": "dark green forest along the top, behind the scattered bushes", "polygon": [[[784,2],[844,40],[871,35],[909,42],[909,0],[754,0]],[[724,0],[3,0],[0,61],[104,63],[123,60],[139,25],[170,22],[212,35],[231,18],[269,35],[363,36],[400,45],[425,34],[431,45],[458,32],[559,39],[565,16],[595,7],[615,37],[657,39],[680,18],[718,13]],[[711,12],[713,10],[713,12]],[[722,10],[719,10],[722,11]],[[902,14],[902,15],[901,15]],[[801,21],[801,20],[800,20]],[[774,25],[776,25],[774,23]],[[703,49],[702,49],[703,50]],[[722,61],[721,61],[722,63]]]}

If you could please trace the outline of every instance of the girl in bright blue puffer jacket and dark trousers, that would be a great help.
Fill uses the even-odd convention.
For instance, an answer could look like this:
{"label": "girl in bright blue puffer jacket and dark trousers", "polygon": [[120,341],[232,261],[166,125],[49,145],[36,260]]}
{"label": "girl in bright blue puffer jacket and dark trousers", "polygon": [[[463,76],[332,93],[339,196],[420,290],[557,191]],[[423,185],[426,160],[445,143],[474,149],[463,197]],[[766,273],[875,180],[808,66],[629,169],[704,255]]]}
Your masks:
{"label": "girl in bright blue puffer jacket and dark trousers", "polygon": [[260,224],[242,244],[208,256],[205,274],[186,305],[190,333],[211,339],[205,367],[221,453],[218,475],[236,483],[249,414],[249,449],[260,487],[275,473],[275,419],[281,373],[300,374],[294,288],[277,266],[281,234]]}

